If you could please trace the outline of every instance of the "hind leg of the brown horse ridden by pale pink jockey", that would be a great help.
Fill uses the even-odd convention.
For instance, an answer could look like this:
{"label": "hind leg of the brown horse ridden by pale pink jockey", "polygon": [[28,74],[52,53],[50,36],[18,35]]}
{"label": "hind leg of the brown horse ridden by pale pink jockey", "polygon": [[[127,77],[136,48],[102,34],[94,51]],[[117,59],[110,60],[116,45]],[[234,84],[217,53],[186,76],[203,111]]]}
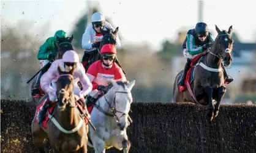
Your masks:
{"label": "hind leg of the brown horse ridden by pale pink jockey", "polygon": [[39,153],[45,153],[45,146],[43,141],[46,138],[45,132],[41,129],[38,123],[36,123],[35,119],[32,121],[31,125],[32,129],[32,139],[35,148],[38,150]]}

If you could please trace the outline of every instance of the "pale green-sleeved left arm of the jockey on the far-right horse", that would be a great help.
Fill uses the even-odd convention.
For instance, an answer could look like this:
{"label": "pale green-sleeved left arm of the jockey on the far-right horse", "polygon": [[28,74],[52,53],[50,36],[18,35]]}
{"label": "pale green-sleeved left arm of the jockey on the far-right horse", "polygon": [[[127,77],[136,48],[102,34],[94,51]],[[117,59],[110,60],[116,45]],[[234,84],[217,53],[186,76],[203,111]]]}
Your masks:
{"label": "pale green-sleeved left arm of the jockey on the far-right horse", "polygon": [[197,48],[195,48],[195,38],[191,34],[187,34],[186,46],[187,46],[187,52],[189,52],[190,55],[200,54],[203,51],[202,46],[198,46]]}

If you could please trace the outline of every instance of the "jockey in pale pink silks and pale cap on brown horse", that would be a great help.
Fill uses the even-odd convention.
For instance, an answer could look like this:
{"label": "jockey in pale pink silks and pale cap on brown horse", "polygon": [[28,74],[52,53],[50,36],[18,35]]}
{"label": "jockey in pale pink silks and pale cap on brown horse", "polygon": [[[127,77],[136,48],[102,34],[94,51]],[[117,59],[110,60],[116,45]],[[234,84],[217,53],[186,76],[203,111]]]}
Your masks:
{"label": "jockey in pale pink silks and pale cap on brown horse", "polygon": [[[49,96],[48,101],[45,102],[38,115],[40,126],[42,126],[42,121],[43,119],[45,119],[45,114],[47,112],[47,109],[50,107],[51,102],[55,102],[57,99],[55,82],[58,80],[59,77],[58,66],[60,66],[61,69],[66,69],[66,71],[75,69],[73,73],[73,91],[74,94],[80,98],[80,101],[84,103],[84,109],[87,110],[84,98],[92,90],[92,84],[85,74],[85,68],[79,62],[79,56],[77,52],[66,51],[62,59],[55,60],[53,63],[51,63],[48,71],[43,74],[40,79],[40,87],[42,87],[42,90],[45,91],[45,93],[48,93]],[[78,81],[81,82],[83,90],[80,90],[80,88],[78,87]],[[53,84],[52,87],[50,86],[51,82]]]}

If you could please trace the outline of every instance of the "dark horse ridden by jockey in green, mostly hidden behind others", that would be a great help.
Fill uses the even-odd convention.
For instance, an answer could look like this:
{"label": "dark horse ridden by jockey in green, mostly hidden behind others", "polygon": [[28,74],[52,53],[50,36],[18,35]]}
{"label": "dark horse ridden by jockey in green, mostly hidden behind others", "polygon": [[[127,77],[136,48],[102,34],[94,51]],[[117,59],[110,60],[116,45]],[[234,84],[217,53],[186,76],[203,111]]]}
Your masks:
{"label": "dark horse ridden by jockey in green, mostly hidden behind others", "polygon": [[[57,41],[55,42],[55,46],[57,47],[58,51],[57,51],[55,60],[62,59],[62,55],[66,51],[73,50],[73,46],[71,44],[72,40],[73,40],[73,35],[71,37],[67,37],[67,38],[59,38],[57,36]],[[47,65],[47,66],[49,68],[50,64]],[[48,69],[48,68],[45,68],[45,69]],[[42,71],[45,71],[45,70],[42,70]],[[38,95],[36,95],[36,96],[32,96],[31,95],[31,90],[32,90],[32,87],[34,86],[34,84],[36,84],[36,80],[37,80],[37,77],[34,77],[34,79],[29,84],[28,102],[36,102],[36,103],[38,103],[40,98],[41,98],[41,96],[38,96]]]}

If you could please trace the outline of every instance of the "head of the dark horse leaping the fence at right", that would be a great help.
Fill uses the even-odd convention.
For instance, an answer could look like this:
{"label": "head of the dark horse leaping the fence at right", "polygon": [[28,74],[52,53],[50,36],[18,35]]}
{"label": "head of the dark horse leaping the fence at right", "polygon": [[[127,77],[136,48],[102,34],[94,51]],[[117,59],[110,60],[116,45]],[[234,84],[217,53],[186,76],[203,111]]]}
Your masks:
{"label": "head of the dark horse leaping the fence at right", "polygon": [[[215,25],[216,26],[216,25]],[[226,30],[220,31],[216,26],[218,32],[216,38],[217,54],[224,60],[224,66],[230,66],[232,62],[232,50],[233,50],[233,39],[231,37],[232,26],[229,27],[228,32]]]}

